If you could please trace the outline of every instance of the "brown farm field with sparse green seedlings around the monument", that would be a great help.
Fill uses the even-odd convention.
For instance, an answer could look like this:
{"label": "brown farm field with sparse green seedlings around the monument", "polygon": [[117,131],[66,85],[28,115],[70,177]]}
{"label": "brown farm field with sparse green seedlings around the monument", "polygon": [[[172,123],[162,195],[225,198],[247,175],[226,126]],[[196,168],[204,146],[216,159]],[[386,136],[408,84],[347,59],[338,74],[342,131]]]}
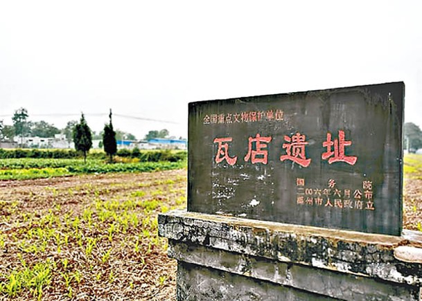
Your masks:
{"label": "brown farm field with sparse green seedlings around the monument", "polygon": [[[405,156],[403,196],[422,230],[422,156]],[[157,215],[184,207],[186,168],[0,181],[0,300],[174,300]]]}

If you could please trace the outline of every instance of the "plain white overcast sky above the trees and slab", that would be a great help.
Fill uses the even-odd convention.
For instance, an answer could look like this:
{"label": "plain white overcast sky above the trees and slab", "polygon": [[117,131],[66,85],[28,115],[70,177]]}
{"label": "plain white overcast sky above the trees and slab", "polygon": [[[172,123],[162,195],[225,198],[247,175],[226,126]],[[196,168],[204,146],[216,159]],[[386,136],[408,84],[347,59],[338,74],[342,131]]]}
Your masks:
{"label": "plain white overcast sky above the trees and slab", "polygon": [[0,120],[186,137],[191,101],[404,81],[422,127],[421,3],[3,0]]}

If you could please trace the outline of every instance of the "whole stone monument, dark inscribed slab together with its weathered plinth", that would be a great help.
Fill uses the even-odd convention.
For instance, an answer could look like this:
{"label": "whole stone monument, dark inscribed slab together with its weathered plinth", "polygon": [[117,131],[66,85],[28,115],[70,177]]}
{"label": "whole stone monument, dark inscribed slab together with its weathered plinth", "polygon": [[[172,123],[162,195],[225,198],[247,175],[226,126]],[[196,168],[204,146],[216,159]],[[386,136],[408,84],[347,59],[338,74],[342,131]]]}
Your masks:
{"label": "whole stone monument, dark inscribed slab together with its weathered plinth", "polygon": [[[403,82],[189,104],[177,300],[420,300]],[[421,233],[421,234],[420,234]]]}

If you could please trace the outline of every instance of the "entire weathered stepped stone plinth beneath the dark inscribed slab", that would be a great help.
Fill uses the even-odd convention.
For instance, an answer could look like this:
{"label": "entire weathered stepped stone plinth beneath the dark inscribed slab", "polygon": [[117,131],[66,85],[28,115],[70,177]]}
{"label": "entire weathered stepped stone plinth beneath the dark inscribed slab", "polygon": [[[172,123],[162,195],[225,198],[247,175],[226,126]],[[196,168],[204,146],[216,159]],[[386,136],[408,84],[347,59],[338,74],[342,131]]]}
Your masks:
{"label": "entire weathered stepped stone plinth beneath the dark inscribed slab", "polygon": [[422,232],[401,237],[173,211],[178,300],[421,300]]}

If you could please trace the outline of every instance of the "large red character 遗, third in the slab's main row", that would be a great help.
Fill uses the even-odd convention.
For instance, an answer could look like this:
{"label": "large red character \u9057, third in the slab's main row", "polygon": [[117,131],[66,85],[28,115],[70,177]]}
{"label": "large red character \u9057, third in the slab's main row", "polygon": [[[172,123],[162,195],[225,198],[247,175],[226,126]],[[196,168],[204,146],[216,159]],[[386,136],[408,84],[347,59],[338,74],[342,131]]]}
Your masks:
{"label": "large red character \u9057, third in the slab's main row", "polygon": [[281,156],[280,160],[291,160],[302,167],[308,167],[312,159],[306,158],[305,146],[308,145],[308,142],[305,141],[306,136],[297,132],[291,138],[289,136],[284,136],[284,140],[288,142],[283,143],[283,148],[285,148],[287,154]]}

